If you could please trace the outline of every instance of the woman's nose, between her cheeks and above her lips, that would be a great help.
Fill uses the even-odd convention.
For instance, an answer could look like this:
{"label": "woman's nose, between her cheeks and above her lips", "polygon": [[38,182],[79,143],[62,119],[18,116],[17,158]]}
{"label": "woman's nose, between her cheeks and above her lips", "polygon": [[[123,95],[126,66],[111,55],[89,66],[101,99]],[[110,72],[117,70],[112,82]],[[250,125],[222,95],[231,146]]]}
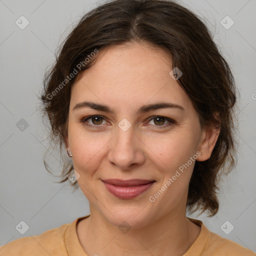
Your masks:
{"label": "woman's nose, between her cheeks and above her lips", "polygon": [[111,139],[108,161],[120,169],[129,170],[132,164],[140,165],[144,162],[144,146],[132,126],[126,131],[117,127],[116,135]]}

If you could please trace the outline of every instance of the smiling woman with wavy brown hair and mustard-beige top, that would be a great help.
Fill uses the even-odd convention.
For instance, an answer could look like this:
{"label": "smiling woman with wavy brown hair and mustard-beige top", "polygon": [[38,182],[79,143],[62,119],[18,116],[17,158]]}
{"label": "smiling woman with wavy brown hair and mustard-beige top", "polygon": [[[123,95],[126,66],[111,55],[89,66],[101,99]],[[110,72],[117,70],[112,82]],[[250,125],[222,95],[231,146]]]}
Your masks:
{"label": "smiling woman with wavy brown hair and mustard-beige top", "polygon": [[[0,255],[255,255],[186,209],[218,210],[234,166],[235,85],[206,26],[165,0],[115,0],[82,17],[45,74],[62,179],[90,215]],[[224,170],[224,171],[223,171]]]}

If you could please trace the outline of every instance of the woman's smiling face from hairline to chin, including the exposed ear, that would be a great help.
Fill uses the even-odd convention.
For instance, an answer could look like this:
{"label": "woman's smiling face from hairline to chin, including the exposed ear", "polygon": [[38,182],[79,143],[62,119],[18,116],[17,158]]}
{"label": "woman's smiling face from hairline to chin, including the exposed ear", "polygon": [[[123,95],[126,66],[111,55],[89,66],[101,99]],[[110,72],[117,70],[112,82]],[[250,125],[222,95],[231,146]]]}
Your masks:
{"label": "woman's smiling face from hairline to chin, including the exposed ear", "polygon": [[[165,51],[129,43],[98,54],[71,88],[66,138],[91,212],[136,227],[185,214],[195,159],[210,156],[216,137],[200,129],[188,96],[169,75]],[[154,105],[163,102],[169,106]]]}

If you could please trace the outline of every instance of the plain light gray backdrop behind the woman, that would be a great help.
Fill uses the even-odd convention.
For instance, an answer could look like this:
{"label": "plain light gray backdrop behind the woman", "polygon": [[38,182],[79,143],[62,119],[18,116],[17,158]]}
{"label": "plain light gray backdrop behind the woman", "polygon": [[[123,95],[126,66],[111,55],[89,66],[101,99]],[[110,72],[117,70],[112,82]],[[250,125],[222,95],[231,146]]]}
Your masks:
{"label": "plain light gray backdrop behind the woman", "polygon": [[[45,68],[54,60],[54,51],[71,24],[100,2],[0,0],[0,245],[89,213],[80,189],[72,192],[68,183],[54,183],[57,179],[44,168],[47,132],[37,110],[36,95],[41,91]],[[241,93],[238,164],[223,177],[220,209],[211,218],[204,214],[190,216],[202,220],[212,232],[256,251],[256,1],[177,2],[208,20]],[[21,15],[29,21],[24,29],[15,24]],[[226,15],[234,21],[229,29],[220,23]],[[16,126],[21,118],[28,123],[23,131]],[[56,164],[55,174],[58,168]],[[23,235],[15,229],[21,220],[29,226]],[[234,226],[229,234],[220,228],[226,220]]]}

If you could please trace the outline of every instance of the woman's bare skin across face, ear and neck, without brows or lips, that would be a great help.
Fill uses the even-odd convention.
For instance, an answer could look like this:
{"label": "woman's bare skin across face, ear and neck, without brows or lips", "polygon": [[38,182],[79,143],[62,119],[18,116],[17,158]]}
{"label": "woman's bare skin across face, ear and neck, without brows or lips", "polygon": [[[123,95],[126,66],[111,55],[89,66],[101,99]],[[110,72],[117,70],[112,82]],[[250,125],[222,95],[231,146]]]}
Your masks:
{"label": "woman's bare skin across face, ear and neck, without brows or lips", "polygon": [[[156,193],[182,163],[200,152],[210,154],[218,130],[199,125],[189,97],[169,75],[170,56],[160,48],[127,43],[105,48],[96,62],[71,88],[66,148],[72,152],[77,182],[90,205],[90,216],[79,221],[76,232],[88,255],[182,255],[195,241],[200,227],[186,218],[186,198],[194,161],[155,199]],[[181,70],[185,72],[185,70]],[[106,113],[89,107],[73,110],[84,100],[108,105]],[[161,108],[136,114],[143,104],[158,101],[179,108]],[[103,119],[88,119],[102,115]],[[174,119],[152,119],[152,116]],[[126,118],[131,126],[123,131],[118,123]],[[133,199],[109,193],[101,179],[149,179],[156,182]],[[126,221],[130,230],[118,226]]]}

